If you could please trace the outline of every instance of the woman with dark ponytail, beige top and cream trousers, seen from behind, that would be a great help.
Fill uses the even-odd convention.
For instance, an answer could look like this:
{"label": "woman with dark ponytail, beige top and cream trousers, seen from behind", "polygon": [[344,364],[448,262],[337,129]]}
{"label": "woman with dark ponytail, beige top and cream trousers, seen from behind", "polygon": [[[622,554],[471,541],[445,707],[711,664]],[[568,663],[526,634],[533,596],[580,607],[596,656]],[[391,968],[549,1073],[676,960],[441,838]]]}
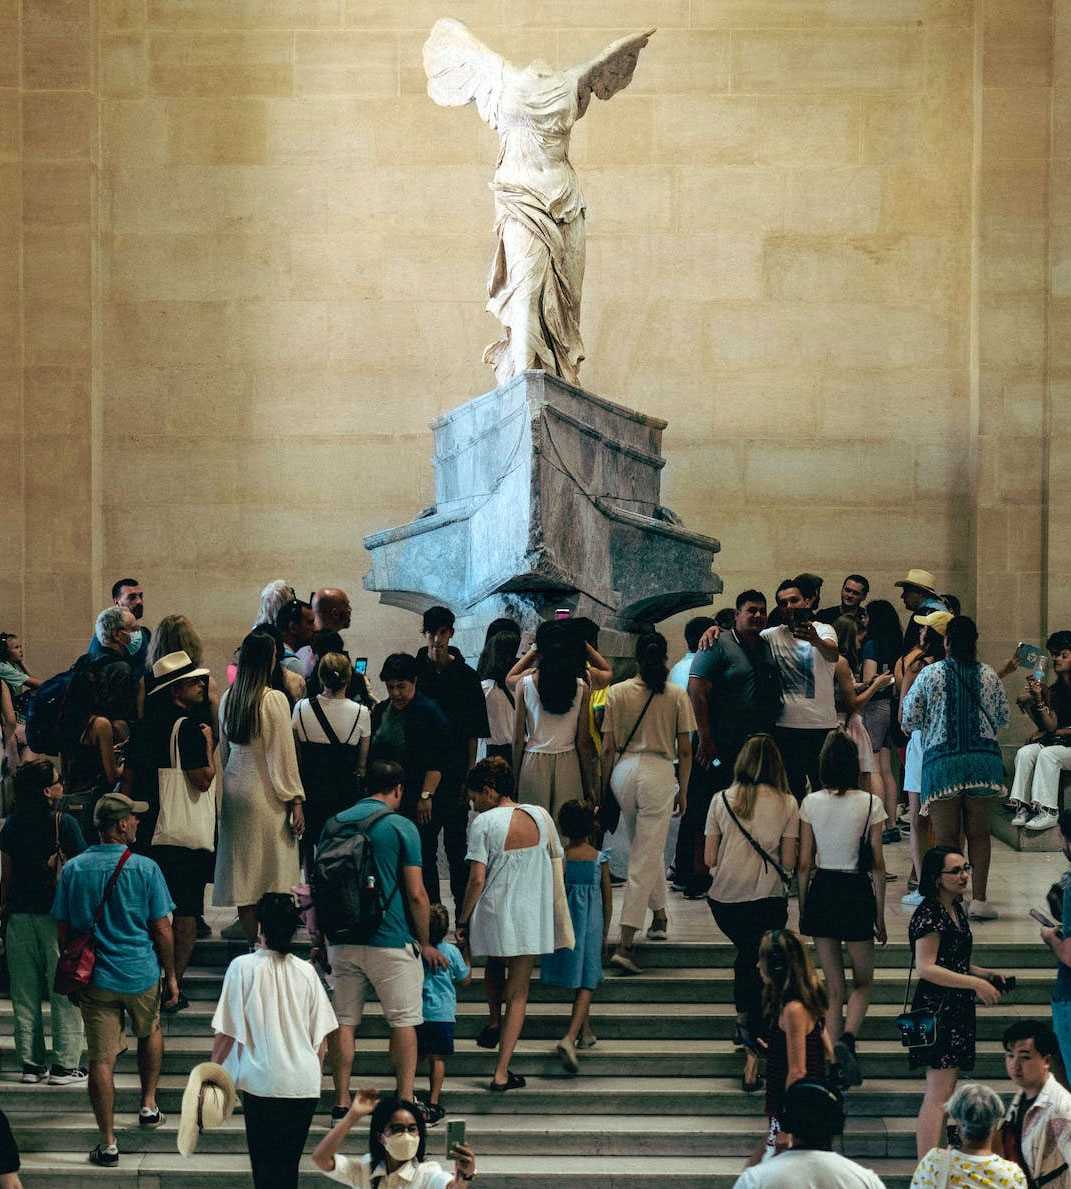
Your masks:
{"label": "woman with dark ponytail, beige top and cream trousers, seen from behind", "polygon": [[603,719],[603,787],[613,791],[620,805],[619,829],[631,844],[620,943],[610,962],[628,974],[640,973],[632,939],[648,908],[653,913],[648,939],[664,942],[668,936],[663,851],[674,804],[683,811],[692,773],[695,716],[687,692],[667,685],[667,653],[666,637],[657,631],[645,631],[636,641],[640,673],[610,686]]}

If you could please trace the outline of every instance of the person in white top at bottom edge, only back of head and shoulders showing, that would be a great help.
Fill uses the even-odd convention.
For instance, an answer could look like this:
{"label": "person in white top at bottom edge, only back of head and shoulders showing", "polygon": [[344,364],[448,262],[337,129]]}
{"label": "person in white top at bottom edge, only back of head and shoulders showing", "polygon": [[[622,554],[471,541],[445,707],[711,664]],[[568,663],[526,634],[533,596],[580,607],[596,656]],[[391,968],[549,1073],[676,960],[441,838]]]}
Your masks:
{"label": "person in white top at bottom edge, only back of head and shoulders showing", "polygon": [[884,1189],[876,1172],[832,1151],[844,1130],[844,1106],[821,1082],[804,1077],[789,1086],[781,1108],[785,1146],[762,1164],[745,1169],[733,1189]]}

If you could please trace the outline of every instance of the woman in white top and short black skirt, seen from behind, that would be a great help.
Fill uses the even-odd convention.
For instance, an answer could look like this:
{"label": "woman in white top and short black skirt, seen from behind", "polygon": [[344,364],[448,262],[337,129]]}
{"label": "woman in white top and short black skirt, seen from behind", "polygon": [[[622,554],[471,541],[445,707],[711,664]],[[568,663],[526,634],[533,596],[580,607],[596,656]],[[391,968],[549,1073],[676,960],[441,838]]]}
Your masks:
{"label": "woman in white top and short black skirt, seen from behind", "polygon": [[[826,979],[826,1026],[846,1086],[863,1077],[856,1037],[870,1004],[874,939],[884,945],[886,860],[881,849],[887,819],[880,797],[859,785],[859,750],[843,730],[830,731],[819,760],[823,788],[800,805],[800,932],[814,938]],[[844,954],[851,960],[848,996]]]}

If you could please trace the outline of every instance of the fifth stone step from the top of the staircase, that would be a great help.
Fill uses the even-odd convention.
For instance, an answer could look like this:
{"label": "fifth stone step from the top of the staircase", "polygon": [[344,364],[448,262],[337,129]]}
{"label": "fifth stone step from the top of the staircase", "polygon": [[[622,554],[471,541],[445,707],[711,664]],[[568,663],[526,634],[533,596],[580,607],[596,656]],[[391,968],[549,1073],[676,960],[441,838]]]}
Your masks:
{"label": "fifth stone step from the top of the staircase", "polygon": [[[160,1077],[158,1099],[168,1113],[177,1112],[185,1077],[165,1074]],[[1010,1093],[1004,1080],[988,1080],[1000,1093]],[[380,1084],[386,1084],[385,1080]],[[849,1096],[849,1113],[859,1118],[912,1118],[919,1113],[925,1090],[920,1074],[913,1077],[870,1077]],[[611,1114],[644,1118],[649,1114],[761,1115],[763,1096],[746,1095],[738,1077],[540,1077],[528,1080],[528,1087],[510,1094],[491,1094],[483,1078],[451,1077],[447,1084],[448,1108],[453,1115],[509,1114]],[[333,1102],[329,1082],[321,1090],[322,1109]],[[139,1105],[138,1078],[134,1074],[115,1075],[116,1114],[133,1115]],[[84,1087],[23,1086],[17,1081],[0,1082],[0,1109],[46,1111],[59,1115],[86,1109]]]}

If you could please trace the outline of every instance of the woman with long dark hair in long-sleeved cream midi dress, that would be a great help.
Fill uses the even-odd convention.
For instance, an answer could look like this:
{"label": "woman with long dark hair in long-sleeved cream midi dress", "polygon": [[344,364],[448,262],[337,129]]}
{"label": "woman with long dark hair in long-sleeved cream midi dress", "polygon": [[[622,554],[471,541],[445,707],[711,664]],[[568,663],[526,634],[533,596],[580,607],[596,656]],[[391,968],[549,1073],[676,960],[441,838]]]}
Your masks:
{"label": "woman with long dark hair in long-sleeved cream midi dress", "polygon": [[257,939],[257,901],[289,893],[300,881],[297,841],[304,832],[304,792],[286,696],[270,687],[275,643],[262,633],[241,642],[234,685],[220,702],[223,797],[212,902],[238,905]]}

